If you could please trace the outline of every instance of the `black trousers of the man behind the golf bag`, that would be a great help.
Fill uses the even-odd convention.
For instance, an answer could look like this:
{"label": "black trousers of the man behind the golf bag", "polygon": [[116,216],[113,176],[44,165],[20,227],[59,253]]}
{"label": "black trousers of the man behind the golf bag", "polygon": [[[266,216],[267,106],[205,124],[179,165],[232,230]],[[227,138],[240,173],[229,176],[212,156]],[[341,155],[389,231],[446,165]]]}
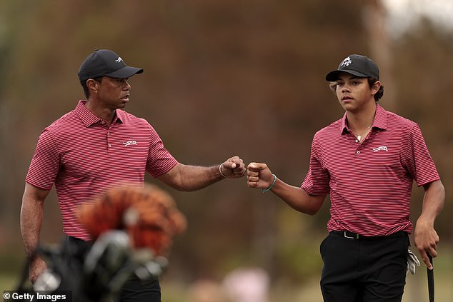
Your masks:
{"label": "black trousers of the man behind the golf bag", "polygon": [[[66,264],[69,268],[80,266],[84,261],[84,256],[89,252],[92,243],[74,237],[66,237],[64,248],[69,251]],[[138,277],[131,276],[121,288],[119,302],[161,302],[161,287],[159,280],[141,281]]]}

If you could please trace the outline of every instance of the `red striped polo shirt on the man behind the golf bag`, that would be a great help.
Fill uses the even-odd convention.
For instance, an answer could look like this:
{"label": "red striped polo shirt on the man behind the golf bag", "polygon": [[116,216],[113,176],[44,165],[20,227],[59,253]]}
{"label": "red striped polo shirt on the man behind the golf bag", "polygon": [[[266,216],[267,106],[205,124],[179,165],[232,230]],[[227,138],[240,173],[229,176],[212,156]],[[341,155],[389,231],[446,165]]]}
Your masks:
{"label": "red striped polo shirt on the man behind the golf bag", "polygon": [[85,103],[41,132],[26,182],[46,190],[55,183],[64,233],[89,241],[74,216],[80,203],[114,186],[142,186],[145,171],[156,177],[177,161],[146,120],[116,109],[108,126]]}

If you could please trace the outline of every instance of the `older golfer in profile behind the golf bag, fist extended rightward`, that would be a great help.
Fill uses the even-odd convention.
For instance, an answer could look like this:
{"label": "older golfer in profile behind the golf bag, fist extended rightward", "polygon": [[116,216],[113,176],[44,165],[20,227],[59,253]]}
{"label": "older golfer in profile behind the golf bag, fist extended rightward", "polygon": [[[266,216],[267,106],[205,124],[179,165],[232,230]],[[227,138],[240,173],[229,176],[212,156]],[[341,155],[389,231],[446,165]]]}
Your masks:
{"label": "older golfer in profile behind the golf bag, fist extended rightward", "polygon": [[[179,163],[147,121],[122,110],[129,102],[129,77],[142,72],[126,66],[114,51],[94,51],[79,70],[86,100],[41,132],[21,208],[31,282],[47,268],[41,258],[31,257],[39,245],[44,201],[54,184],[66,245],[80,251],[90,248],[91,238],[77,221],[76,209],[109,188],[143,186],[145,172],[181,191],[244,176],[246,169],[238,156],[209,167]],[[133,278],[121,291],[121,301],[161,301],[159,281],[142,283]]]}

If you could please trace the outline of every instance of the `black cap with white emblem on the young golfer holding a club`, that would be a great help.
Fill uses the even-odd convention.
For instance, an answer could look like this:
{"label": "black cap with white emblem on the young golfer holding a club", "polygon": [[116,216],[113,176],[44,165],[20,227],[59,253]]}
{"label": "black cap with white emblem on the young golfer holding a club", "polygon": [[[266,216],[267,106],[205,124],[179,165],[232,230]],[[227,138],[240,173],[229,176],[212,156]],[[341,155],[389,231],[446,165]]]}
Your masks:
{"label": "black cap with white emblem on the young golfer holding a club", "polygon": [[373,78],[379,80],[379,68],[376,63],[367,56],[351,54],[347,56],[338,66],[337,70],[330,71],[326,81],[337,81],[340,72],[347,72],[361,78]]}

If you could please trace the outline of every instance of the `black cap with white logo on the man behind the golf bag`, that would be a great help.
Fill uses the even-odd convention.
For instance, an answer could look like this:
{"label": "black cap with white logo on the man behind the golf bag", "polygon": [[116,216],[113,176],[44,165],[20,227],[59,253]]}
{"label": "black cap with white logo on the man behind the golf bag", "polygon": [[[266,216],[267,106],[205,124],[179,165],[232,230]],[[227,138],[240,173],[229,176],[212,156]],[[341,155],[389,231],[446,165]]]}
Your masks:
{"label": "black cap with white logo on the man behind the golf bag", "polygon": [[110,76],[111,78],[125,79],[134,74],[141,74],[143,69],[126,66],[121,56],[109,49],[96,49],[86,57],[79,69],[79,80]]}

